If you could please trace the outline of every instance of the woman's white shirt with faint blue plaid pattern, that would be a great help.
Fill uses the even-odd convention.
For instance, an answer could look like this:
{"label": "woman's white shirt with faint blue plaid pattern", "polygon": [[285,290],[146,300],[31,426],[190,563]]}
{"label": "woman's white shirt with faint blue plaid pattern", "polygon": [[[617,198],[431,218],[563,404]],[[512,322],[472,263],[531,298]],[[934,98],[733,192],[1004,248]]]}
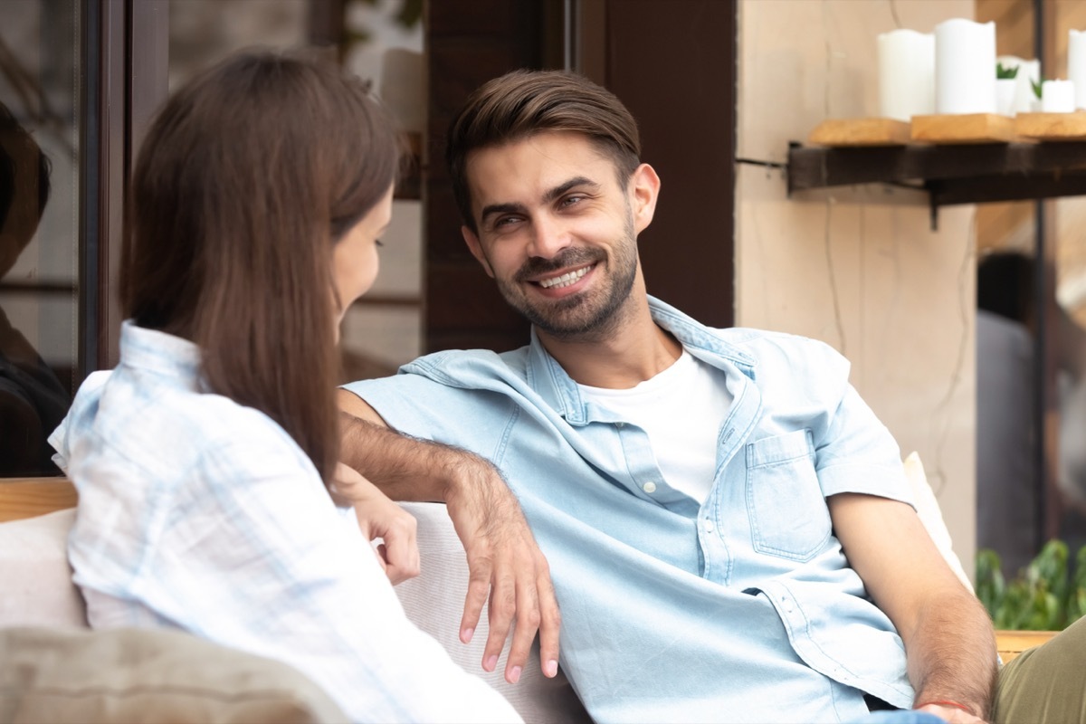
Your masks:
{"label": "woman's white shirt with faint blue plaid pattern", "polygon": [[91,625],[184,628],[285,661],[353,721],[519,721],[406,619],[286,431],[202,392],[199,361],[125,322],[121,364],[50,437],[79,491],[68,557]]}

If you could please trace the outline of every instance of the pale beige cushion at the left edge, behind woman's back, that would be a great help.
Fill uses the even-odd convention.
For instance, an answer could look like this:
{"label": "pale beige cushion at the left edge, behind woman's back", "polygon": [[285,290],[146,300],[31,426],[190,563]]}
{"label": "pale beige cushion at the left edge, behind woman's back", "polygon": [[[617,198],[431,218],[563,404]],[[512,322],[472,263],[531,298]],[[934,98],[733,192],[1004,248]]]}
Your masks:
{"label": "pale beige cushion at the left edge, behind woman's back", "polygon": [[0,626],[86,626],[72,583],[67,533],[75,508],[0,523]]}

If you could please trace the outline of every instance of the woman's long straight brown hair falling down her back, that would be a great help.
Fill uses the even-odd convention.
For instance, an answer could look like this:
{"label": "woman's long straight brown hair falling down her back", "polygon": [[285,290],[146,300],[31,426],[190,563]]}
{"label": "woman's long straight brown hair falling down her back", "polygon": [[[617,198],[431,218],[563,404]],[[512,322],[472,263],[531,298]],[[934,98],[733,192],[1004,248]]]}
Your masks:
{"label": "woman's long straight brown hair falling down her back", "polygon": [[339,453],[332,247],[395,181],[401,143],[359,79],[249,51],[166,101],[132,177],[125,315],[194,342],[210,391],[282,425],[326,483]]}

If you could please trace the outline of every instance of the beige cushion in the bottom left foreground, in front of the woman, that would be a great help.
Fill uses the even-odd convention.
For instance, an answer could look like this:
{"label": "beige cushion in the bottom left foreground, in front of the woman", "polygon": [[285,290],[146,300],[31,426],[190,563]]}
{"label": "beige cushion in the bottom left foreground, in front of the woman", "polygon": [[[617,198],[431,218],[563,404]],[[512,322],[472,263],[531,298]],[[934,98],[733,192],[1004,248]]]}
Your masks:
{"label": "beige cushion in the bottom left foreground, in front of the woman", "polygon": [[343,721],[292,668],[186,633],[0,630],[0,724]]}

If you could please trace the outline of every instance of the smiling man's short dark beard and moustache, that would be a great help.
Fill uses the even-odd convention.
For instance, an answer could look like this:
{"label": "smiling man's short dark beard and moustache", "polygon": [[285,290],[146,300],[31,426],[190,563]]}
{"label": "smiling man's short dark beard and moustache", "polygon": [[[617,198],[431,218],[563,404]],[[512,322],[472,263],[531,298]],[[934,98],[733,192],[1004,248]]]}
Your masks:
{"label": "smiling man's short dark beard and moustache", "polygon": [[[622,316],[618,313],[630,297],[630,290],[637,276],[637,242],[632,218],[627,218],[623,231],[622,240],[613,247],[615,256],[609,263],[599,249],[571,246],[551,259],[529,258],[512,281],[498,279],[497,288],[513,308],[554,338],[584,341],[606,339],[620,323]],[[610,281],[606,289],[598,289],[599,280],[596,279],[594,282],[597,289],[593,292],[540,303],[529,302],[520,287],[530,277],[586,264],[596,264],[593,275],[598,275],[605,270],[605,263]]]}

